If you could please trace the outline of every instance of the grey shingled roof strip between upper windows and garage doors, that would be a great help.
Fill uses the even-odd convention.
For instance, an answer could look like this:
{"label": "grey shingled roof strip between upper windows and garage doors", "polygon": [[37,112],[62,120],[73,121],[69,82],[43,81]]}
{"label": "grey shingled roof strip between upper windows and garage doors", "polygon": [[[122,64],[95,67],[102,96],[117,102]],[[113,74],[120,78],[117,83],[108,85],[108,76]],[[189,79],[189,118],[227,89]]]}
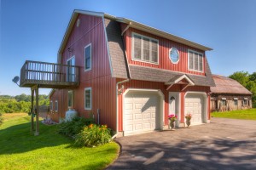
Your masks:
{"label": "grey shingled roof strip between upper windows and garage doors", "polygon": [[[182,72],[160,70],[151,67],[144,67],[141,65],[130,65],[130,71],[131,79],[150,82],[165,82],[166,84],[173,79],[177,79],[178,77],[182,77],[184,75]],[[189,79],[191,79],[196,86],[215,86],[207,59],[206,76],[198,76],[192,74],[186,74],[186,76],[189,77]]]}

